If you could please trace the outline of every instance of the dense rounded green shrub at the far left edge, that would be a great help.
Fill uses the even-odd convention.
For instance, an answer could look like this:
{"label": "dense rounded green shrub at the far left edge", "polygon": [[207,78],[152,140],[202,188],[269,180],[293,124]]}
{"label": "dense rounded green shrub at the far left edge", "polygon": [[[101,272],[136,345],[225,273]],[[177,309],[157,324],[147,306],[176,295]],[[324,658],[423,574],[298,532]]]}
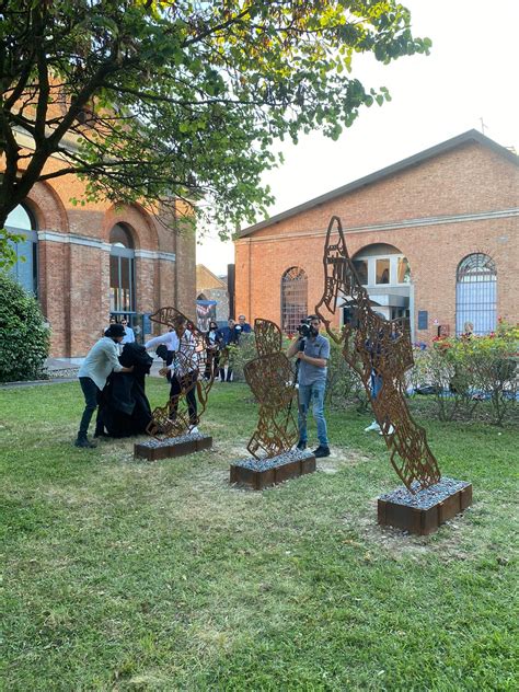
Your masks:
{"label": "dense rounded green shrub at the far left edge", "polygon": [[0,272],[0,382],[45,377],[49,331],[37,300]]}

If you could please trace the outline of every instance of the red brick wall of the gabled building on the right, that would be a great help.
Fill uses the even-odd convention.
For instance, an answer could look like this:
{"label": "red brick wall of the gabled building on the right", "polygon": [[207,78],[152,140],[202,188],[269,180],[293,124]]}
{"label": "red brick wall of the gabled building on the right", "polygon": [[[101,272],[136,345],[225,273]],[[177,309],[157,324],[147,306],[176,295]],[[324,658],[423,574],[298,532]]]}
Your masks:
{"label": "red brick wall of the gabled building on the right", "polygon": [[[280,280],[292,266],[301,267],[309,277],[308,307],[312,312],[323,293],[324,240],[330,218],[336,215],[345,227],[350,256],[372,243],[394,245],[407,256],[415,291],[414,319],[418,310],[429,313],[429,330],[417,332],[417,338],[436,335],[435,319],[449,324],[453,333],[455,270],[461,260],[474,252],[494,258],[498,315],[516,321],[519,217],[383,231],[355,229],[518,207],[517,165],[487,147],[468,143],[237,241],[237,313],[279,324]],[[335,324],[338,319],[337,313]]]}

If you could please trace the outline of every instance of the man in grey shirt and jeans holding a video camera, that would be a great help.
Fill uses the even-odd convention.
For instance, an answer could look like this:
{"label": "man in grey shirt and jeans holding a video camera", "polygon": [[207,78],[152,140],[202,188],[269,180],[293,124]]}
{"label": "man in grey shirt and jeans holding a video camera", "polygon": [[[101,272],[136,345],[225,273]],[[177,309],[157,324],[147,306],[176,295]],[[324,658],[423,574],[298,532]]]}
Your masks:
{"label": "man in grey shirt and jeans holding a video camera", "polygon": [[290,344],[287,356],[298,359],[299,395],[299,442],[298,449],[307,449],[307,415],[312,403],[313,417],[318,426],[319,447],[313,454],[319,459],[330,457],[330,446],[324,418],[324,392],[326,389],[330,342],[319,333],[321,322],[311,314],[298,326],[299,336]]}

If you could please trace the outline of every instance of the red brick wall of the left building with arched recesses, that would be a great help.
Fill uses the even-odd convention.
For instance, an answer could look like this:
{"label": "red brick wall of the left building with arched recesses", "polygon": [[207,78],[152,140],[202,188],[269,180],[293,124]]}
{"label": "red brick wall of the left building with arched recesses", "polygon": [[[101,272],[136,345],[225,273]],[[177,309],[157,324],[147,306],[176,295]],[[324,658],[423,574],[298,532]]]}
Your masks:
{"label": "red brick wall of the left building with arched recesses", "polygon": [[[46,170],[56,168],[51,159]],[[138,205],[120,208],[99,201],[74,206],[70,199],[80,198],[83,189],[83,183],[69,175],[36,184],[26,200],[38,231],[51,233],[38,243],[38,296],[50,323],[50,355],[55,357],[84,356],[107,325],[108,241],[115,223],[129,229],[137,253],[137,312],[154,312],[169,304],[195,316],[194,232],[178,235]],[[55,234],[66,242],[56,242]],[[73,235],[94,241],[94,246],[78,244]],[[139,252],[155,256],[139,256]]]}

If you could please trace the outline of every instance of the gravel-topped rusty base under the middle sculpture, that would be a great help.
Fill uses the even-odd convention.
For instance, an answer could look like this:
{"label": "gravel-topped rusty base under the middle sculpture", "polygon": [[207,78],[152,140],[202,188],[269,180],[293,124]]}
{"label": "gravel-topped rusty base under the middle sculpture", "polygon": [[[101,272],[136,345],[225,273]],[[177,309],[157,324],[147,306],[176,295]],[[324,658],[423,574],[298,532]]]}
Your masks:
{"label": "gravel-topped rusty base under the middle sculpture", "polygon": [[231,464],[231,483],[263,491],[289,478],[315,471],[315,457],[309,451],[290,450],[270,459],[243,459]]}

